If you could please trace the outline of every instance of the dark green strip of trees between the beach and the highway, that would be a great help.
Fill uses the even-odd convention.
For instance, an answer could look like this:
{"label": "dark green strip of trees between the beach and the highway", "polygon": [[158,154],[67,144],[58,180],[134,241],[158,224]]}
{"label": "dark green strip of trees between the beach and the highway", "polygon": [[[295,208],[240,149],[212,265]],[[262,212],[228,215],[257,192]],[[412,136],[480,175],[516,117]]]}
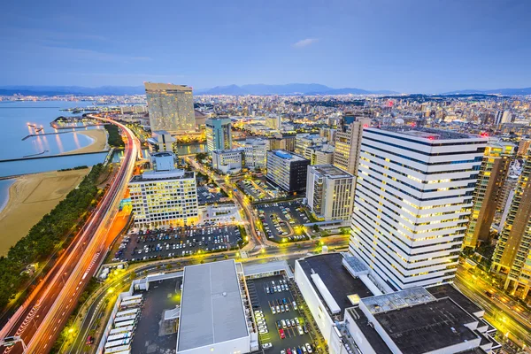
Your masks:
{"label": "dark green strip of trees between the beach and the highway", "polygon": [[103,164],[94,165],[78,188],[44,215],[25,237],[12,246],[7,256],[0,258],[0,308],[4,308],[28,281],[29,275],[24,272],[27,266],[50,257],[64,241],[65,235],[75,230],[78,221],[88,219],[88,211],[97,202],[98,178],[103,171]]}

